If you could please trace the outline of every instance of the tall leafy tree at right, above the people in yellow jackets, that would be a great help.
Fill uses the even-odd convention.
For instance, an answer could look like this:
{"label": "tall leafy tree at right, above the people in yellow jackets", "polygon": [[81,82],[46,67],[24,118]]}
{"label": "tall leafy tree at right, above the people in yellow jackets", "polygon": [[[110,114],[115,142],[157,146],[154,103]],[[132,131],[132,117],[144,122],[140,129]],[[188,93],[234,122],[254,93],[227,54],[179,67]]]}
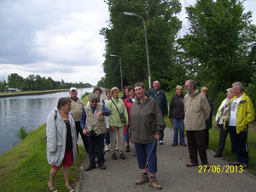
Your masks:
{"label": "tall leafy tree at right, above the people in yellow jackets", "polygon": [[193,71],[199,83],[211,85],[214,91],[229,88],[232,82],[250,82],[253,65],[247,55],[255,43],[252,12],[243,14],[238,0],[197,0],[186,10],[189,34],[178,42],[188,73]]}

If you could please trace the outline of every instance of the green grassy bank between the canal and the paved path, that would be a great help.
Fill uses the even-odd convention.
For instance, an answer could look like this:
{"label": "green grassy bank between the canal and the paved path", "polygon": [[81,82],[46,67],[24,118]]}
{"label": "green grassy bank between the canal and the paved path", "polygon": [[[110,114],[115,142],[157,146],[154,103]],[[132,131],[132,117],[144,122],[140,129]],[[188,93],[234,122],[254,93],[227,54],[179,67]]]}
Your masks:
{"label": "green grassy bank between the canal and the paved path", "polygon": [[[51,165],[46,158],[46,124],[30,133],[20,144],[0,156],[0,191],[49,191],[49,171]],[[83,151],[83,147],[79,147]],[[74,184],[79,163],[85,160],[85,153],[71,167],[70,183]],[[55,177],[59,191],[64,187],[63,168]]]}

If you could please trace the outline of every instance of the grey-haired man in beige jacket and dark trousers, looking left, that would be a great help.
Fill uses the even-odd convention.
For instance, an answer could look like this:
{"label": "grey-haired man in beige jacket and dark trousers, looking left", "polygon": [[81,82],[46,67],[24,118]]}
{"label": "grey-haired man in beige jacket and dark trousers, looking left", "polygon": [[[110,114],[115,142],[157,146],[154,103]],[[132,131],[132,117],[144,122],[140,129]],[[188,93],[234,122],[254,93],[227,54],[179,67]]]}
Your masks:
{"label": "grey-haired man in beige jacket and dark trousers, looking left", "polygon": [[206,96],[196,89],[194,80],[187,80],[185,83],[187,94],[184,102],[184,124],[187,131],[190,162],[187,167],[198,166],[197,150],[203,166],[209,168],[207,161],[207,150],[205,145],[205,121],[209,119],[211,107]]}

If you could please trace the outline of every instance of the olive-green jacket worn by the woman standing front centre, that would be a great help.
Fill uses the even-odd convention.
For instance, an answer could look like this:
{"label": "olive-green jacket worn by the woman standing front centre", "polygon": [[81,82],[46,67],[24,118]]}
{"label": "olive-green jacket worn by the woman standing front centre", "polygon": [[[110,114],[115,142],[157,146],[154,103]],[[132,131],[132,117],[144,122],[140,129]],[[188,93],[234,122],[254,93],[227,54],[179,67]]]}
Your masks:
{"label": "olive-green jacket worn by the woman standing front centre", "polygon": [[137,144],[150,144],[161,135],[166,123],[155,100],[148,95],[143,103],[137,99],[131,105],[129,137]]}

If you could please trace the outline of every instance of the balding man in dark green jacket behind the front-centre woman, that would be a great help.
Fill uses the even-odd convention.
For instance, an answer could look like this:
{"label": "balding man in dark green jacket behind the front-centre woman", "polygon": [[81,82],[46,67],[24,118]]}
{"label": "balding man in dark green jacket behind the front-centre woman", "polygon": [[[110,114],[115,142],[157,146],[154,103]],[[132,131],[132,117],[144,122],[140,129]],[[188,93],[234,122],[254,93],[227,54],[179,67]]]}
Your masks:
{"label": "balding man in dark green jacket behind the front-centre woman", "polygon": [[[153,82],[153,88],[148,90],[148,94],[151,95],[158,106],[160,107],[160,110],[162,112],[163,117],[167,118],[168,116],[168,105],[167,105],[167,99],[166,99],[166,93],[160,89],[160,82],[154,81]],[[161,138],[159,143],[164,144],[164,132],[161,134]]]}

